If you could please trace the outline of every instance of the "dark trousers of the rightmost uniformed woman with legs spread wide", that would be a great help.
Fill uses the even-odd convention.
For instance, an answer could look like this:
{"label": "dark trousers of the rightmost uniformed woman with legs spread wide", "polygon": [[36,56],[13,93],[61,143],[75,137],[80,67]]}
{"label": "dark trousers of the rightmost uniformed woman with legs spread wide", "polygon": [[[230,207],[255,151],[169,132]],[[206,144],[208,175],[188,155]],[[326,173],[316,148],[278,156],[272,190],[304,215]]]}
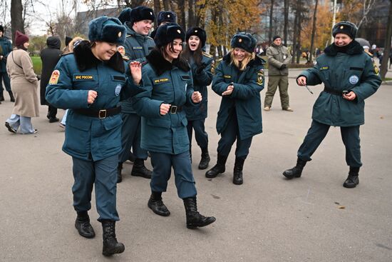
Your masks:
{"label": "dark trousers of the rightmost uniformed woman with legs spread wide", "polygon": [[[311,155],[324,140],[331,126],[312,121],[304,142],[299,146],[297,156],[304,161],[311,161]],[[359,126],[341,126],[341,139],[346,146],[346,163],[348,166],[361,167],[361,139]]]}

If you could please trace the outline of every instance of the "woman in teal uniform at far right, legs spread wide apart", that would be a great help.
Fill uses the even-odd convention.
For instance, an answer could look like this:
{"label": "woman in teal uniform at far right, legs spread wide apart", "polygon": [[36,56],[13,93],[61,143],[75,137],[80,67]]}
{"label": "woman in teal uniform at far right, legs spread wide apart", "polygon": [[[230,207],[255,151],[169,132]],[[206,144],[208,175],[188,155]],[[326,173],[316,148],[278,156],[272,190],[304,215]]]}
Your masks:
{"label": "woman in teal uniform at far right, legs spread wide apart", "polygon": [[297,153],[296,166],[283,172],[288,179],[299,178],[307,161],[323,141],[331,126],[340,126],[346,146],[349,176],[346,188],[359,184],[361,146],[359,126],[364,124],[365,99],[374,94],[381,84],[378,69],[371,56],[355,41],[356,26],[341,21],[332,30],[334,44],[317,57],[313,69],[302,71],[296,79],[299,86],[324,83],[324,91],[313,106],[311,127]]}

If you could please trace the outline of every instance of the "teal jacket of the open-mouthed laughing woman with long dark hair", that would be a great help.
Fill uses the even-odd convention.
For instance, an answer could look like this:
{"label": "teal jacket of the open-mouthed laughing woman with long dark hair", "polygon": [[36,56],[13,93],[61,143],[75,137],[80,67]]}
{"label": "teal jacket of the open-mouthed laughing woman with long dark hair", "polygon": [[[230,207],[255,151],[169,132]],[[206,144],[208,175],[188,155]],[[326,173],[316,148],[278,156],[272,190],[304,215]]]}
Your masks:
{"label": "teal jacket of the open-mouthed laughing woman with long dark hair", "polygon": [[202,54],[202,64],[205,65],[205,69],[202,69],[197,73],[197,64],[195,61],[191,61],[190,68],[193,76],[193,89],[199,91],[202,94],[202,101],[197,106],[185,106],[185,112],[187,119],[190,121],[207,119],[207,103],[208,93],[207,86],[212,82],[212,73],[214,71],[213,65],[214,59],[209,54]]}

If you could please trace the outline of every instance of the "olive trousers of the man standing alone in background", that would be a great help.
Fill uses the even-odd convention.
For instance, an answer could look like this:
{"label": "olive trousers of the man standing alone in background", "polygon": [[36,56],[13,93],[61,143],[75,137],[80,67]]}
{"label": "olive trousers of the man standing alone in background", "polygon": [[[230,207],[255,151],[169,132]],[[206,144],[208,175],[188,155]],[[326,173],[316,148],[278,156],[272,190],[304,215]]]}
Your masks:
{"label": "olive trousers of the man standing alone in background", "polygon": [[264,107],[271,107],[278,86],[282,109],[287,109],[290,106],[289,93],[287,92],[287,89],[289,89],[289,76],[268,76],[268,89],[265,94]]}

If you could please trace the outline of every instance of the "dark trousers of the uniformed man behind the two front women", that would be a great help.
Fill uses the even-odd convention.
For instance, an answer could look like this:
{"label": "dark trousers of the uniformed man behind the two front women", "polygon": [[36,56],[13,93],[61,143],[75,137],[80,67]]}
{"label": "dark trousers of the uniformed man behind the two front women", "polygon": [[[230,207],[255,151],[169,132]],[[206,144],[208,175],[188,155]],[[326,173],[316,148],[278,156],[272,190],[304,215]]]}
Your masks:
{"label": "dark trousers of the uniformed man behind the two front women", "polygon": [[135,158],[147,159],[147,151],[140,147],[142,137],[141,118],[137,114],[121,113],[123,125],[121,126],[121,152],[119,163],[124,163],[130,155],[130,148]]}

